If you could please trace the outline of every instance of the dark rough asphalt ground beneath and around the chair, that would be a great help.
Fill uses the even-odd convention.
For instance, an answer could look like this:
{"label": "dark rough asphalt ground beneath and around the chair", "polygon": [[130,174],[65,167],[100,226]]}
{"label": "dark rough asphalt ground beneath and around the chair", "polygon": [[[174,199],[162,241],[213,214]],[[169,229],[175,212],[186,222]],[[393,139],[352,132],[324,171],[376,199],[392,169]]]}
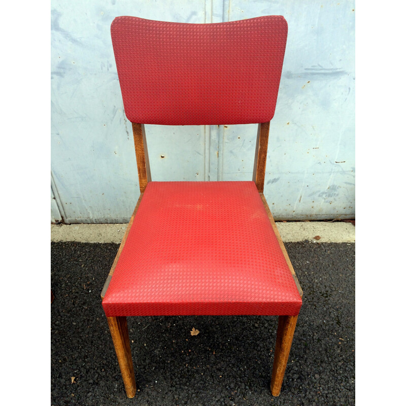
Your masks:
{"label": "dark rough asphalt ground beneath and around the chair", "polygon": [[52,243],[51,404],[355,404],[355,244],[285,246],[303,305],[279,397],[277,317],[164,316],[127,319],[138,388],[128,399],[100,299],[119,245]]}

